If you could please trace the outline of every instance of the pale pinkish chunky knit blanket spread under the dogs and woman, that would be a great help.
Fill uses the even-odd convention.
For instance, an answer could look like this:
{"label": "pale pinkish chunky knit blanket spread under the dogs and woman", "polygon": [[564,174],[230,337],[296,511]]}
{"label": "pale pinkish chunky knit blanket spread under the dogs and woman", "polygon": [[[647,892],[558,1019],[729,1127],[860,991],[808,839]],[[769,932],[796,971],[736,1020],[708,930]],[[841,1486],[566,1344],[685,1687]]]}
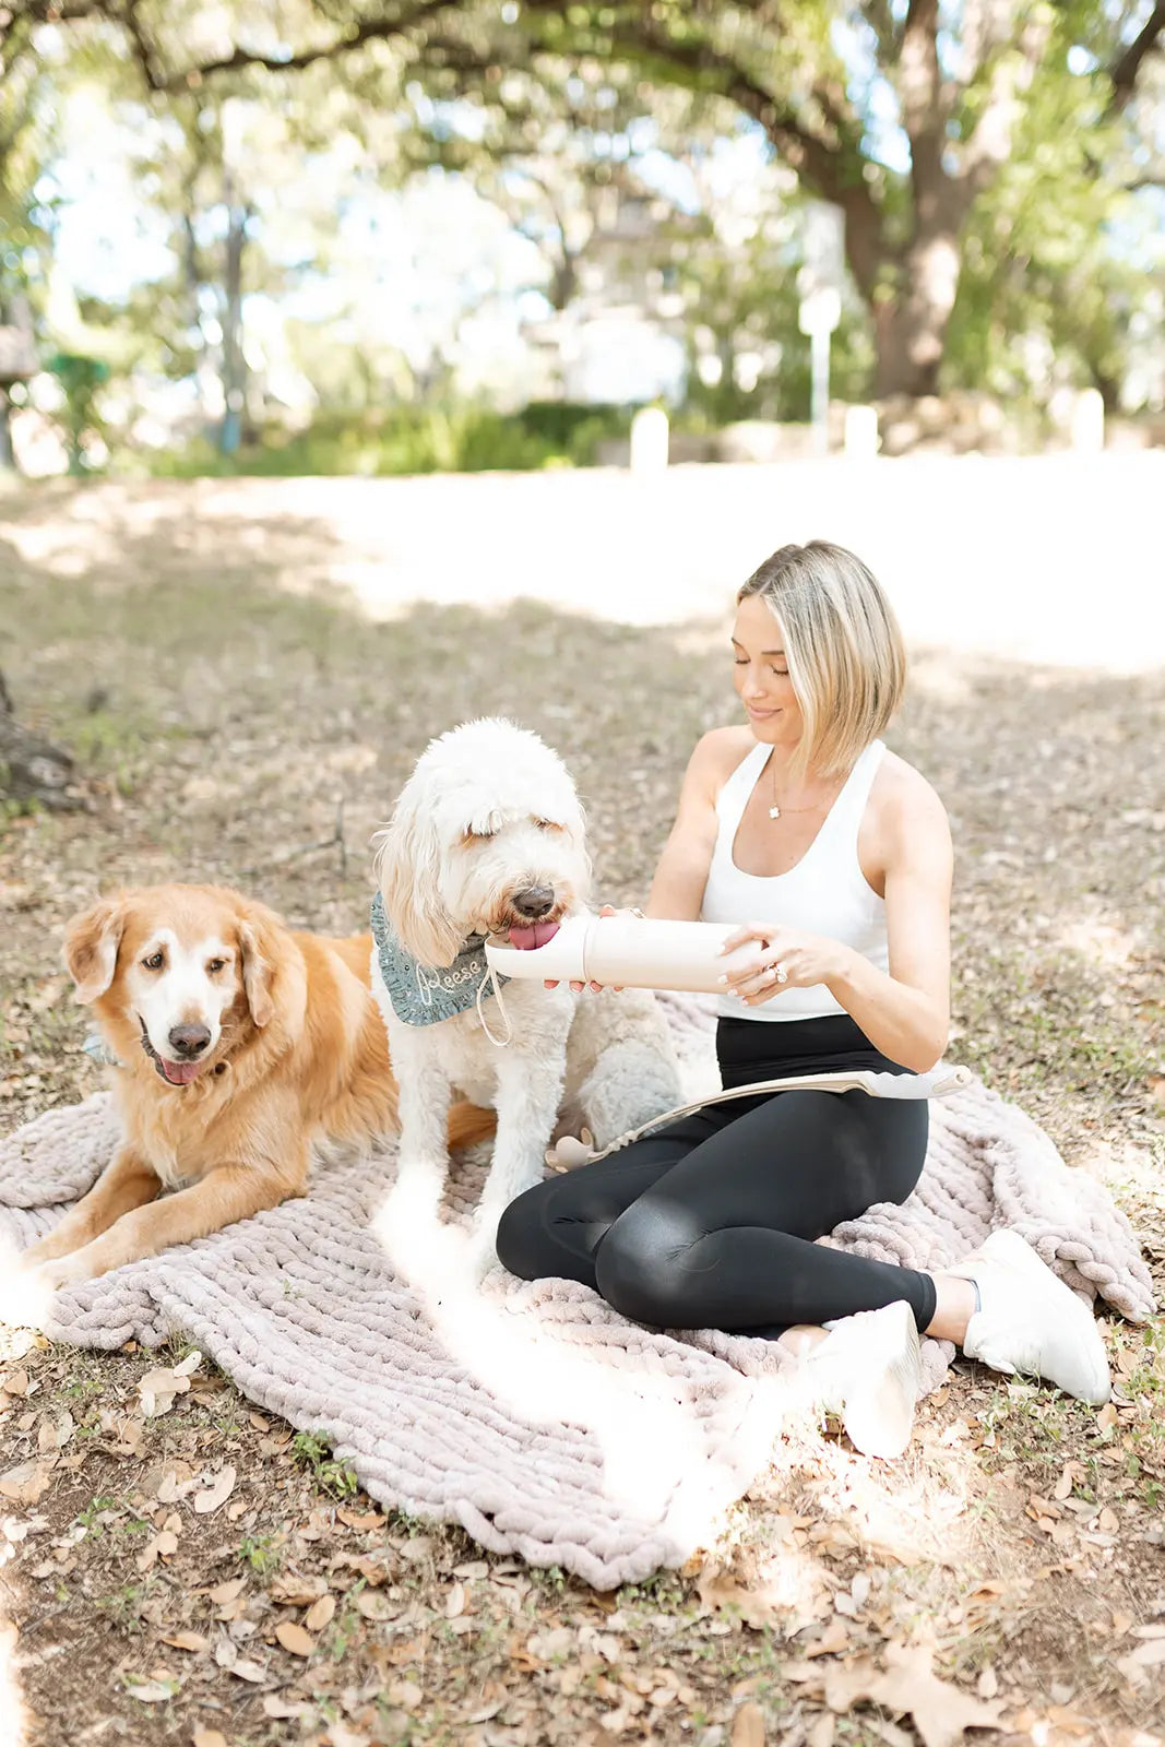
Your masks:
{"label": "pale pinkish chunky knit blanket spread under the dogs and woman", "polygon": [[[707,1005],[664,1006],[692,1095],[714,1087]],[[47,1230],[115,1139],[100,1094],[0,1141],[0,1246]],[[405,1279],[374,1226],[393,1165],[391,1144],[325,1157],[304,1200],[63,1291],[45,1329],[101,1349],[182,1331],[259,1406],[327,1433],[379,1502],[458,1522],[482,1546],[597,1588],[709,1544],[774,1455],[793,1399],[781,1349],[648,1331],[575,1282],[529,1286],[494,1268],[475,1288],[456,1263],[482,1151],[451,1177],[440,1260],[428,1268],[417,1253]],[[980,1081],[931,1106],[927,1165],[906,1205],[873,1207],[828,1242],[938,1268],[1001,1225],[1088,1298],[1132,1321],[1153,1312],[1107,1191]],[[933,1387],[952,1349],[924,1352]]]}

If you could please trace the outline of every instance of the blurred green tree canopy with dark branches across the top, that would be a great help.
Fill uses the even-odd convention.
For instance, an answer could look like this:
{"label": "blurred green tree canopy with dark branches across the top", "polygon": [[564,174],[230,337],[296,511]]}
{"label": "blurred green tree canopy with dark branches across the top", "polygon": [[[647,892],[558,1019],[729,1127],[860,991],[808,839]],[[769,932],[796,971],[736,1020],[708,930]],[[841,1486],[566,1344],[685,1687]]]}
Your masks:
{"label": "blurred green tree canopy with dark branches across the top", "polygon": [[[30,162],[49,145],[45,86],[66,87],[84,68],[180,131],[154,166],[182,262],[157,295],[185,299],[175,356],[182,344],[197,353],[213,283],[227,437],[245,398],[246,257],[250,283],[274,271],[260,262],[257,201],[278,157],[259,145],[234,162],[217,152],[213,117],[231,98],[269,112],[285,152],[348,129],[388,182],[428,166],[468,176],[547,260],[557,311],[603,241],[604,192],[639,201],[653,225],[638,255],[650,257],[653,295],[679,299],[693,365],[718,358],[692,377],[709,412],[739,411],[741,393],[770,379],[784,386],[769,405],[800,398],[789,342],[805,196],[845,220],[838,363],[852,391],[870,362],[877,395],[926,395],[940,381],[1022,391],[1043,348],[1114,405],[1156,259],[1160,206],[1144,201],[1165,180],[1163,40],[1165,5],[1149,0],[218,0],[190,10],[9,0],[3,262],[14,271],[38,246],[44,213],[28,190]],[[713,142],[734,129],[762,136],[782,171],[769,210],[744,227],[725,227],[716,189],[699,187]],[[679,197],[676,178],[651,180],[660,154],[685,168]],[[279,199],[295,192],[288,182]],[[222,234],[199,220],[199,201]]]}

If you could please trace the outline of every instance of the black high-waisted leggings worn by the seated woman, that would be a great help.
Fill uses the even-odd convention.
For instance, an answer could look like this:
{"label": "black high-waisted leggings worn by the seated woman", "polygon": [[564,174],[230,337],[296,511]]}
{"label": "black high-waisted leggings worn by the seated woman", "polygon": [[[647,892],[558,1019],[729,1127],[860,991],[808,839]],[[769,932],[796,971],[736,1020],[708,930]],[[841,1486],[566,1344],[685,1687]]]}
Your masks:
{"label": "black high-waisted leggings worn by the seated woman", "polygon": [[[721,1019],[725,1090],[828,1069],[901,1073],[847,1015]],[[765,1092],[711,1104],[658,1134],[548,1177],[501,1216],[510,1274],[582,1281],[657,1328],[776,1338],[905,1298],[924,1329],[934,1282],[814,1239],[875,1202],[905,1202],[922,1172],[926,1101],[865,1092]]]}

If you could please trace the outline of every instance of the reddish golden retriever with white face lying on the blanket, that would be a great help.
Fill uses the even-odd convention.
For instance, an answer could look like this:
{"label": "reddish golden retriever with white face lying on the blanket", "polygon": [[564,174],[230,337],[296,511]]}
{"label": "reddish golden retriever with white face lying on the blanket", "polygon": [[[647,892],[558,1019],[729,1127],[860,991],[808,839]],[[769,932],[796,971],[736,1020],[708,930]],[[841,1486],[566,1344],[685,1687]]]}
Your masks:
{"label": "reddish golden retriever with white face lying on the blanket", "polygon": [[[124,1132],[24,1267],[45,1286],[94,1279],[304,1195],[318,1136],[395,1132],[370,956],[370,935],[292,933],[225,886],[141,886],[73,917],[65,964],[119,1064]],[[451,1146],[494,1120],[456,1104]]]}

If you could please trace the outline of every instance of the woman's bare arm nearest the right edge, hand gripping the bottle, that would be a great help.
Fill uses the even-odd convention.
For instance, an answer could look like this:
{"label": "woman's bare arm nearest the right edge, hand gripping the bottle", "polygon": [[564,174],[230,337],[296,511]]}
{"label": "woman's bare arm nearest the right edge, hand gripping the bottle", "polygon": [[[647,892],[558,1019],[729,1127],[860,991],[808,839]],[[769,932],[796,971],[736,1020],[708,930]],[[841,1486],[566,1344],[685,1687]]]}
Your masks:
{"label": "woman's bare arm nearest the right edge, hand gripping the bottle", "polygon": [[[725,943],[769,942],[760,975],[730,978],[744,1006],[779,1001],[784,989],[824,984],[833,999],[893,1062],[926,1073],[950,1029],[950,826],[934,790],[903,772],[879,809],[877,860],[886,874],[889,975],[852,947],[779,924],[753,922]],[[786,980],[777,982],[781,964]]]}

